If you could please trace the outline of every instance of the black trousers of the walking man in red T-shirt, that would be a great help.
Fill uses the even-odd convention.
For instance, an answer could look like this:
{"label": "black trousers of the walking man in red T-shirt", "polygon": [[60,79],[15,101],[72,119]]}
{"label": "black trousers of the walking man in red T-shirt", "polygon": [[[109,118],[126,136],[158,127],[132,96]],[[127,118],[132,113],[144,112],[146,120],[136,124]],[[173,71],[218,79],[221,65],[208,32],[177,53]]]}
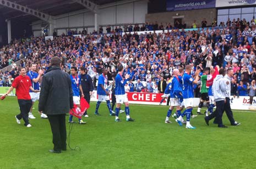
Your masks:
{"label": "black trousers of the walking man in red T-shirt", "polygon": [[25,122],[25,126],[27,126],[29,124],[29,111],[32,106],[32,100],[19,99],[18,103],[20,106],[20,113],[16,117],[18,119],[23,118],[23,120]]}

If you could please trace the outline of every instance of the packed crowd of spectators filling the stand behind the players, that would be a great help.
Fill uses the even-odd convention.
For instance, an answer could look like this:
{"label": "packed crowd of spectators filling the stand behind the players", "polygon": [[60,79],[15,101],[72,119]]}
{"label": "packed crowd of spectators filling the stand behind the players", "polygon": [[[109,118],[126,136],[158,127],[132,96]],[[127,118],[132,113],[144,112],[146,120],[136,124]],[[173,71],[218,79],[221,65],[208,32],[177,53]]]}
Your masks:
{"label": "packed crowd of spectators filling the stand behind the players", "polygon": [[[201,26],[205,27],[205,19]],[[211,26],[217,26],[216,20]],[[0,69],[12,66],[12,70],[0,72],[0,86],[10,86],[17,77],[16,61],[29,70],[32,62],[37,63],[38,69],[48,69],[54,56],[62,59],[62,70],[69,72],[72,66],[85,67],[95,81],[101,73],[101,68],[108,69],[108,80],[113,80],[117,66],[122,64],[124,74],[130,75],[127,91],[159,92],[157,85],[162,79],[168,81],[172,70],[192,66],[195,70],[211,68],[219,65],[221,68],[232,68],[235,72],[232,80],[232,94],[247,96],[251,82],[256,80],[256,31],[255,20],[227,20],[221,22],[221,28],[199,29],[196,21],[192,24],[193,31],[186,31],[186,24],[176,25],[149,24],[143,26],[124,25],[107,32],[124,31],[126,34],[93,34],[79,32],[83,37],[67,35],[55,36],[53,40],[44,37],[14,40],[12,44],[0,49]],[[179,30],[179,28],[181,28]],[[129,31],[168,30],[156,34],[129,34]],[[99,32],[103,30],[100,28]],[[203,71],[201,71],[203,72]],[[136,81],[136,83],[133,83]],[[255,83],[254,83],[255,85]],[[195,85],[195,91],[200,90],[200,84]],[[255,86],[256,88],[256,86]],[[254,92],[255,93],[255,92]]]}

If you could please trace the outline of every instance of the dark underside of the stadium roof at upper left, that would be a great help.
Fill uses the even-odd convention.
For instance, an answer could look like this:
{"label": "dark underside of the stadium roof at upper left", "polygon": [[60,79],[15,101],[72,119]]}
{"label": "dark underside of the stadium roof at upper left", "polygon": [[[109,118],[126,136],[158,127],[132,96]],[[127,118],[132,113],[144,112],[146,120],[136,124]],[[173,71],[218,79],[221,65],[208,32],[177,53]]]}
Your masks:
{"label": "dark underside of the stadium roof at upper left", "polygon": [[[81,9],[86,9],[86,7],[72,0],[8,0],[28,8],[39,10],[42,13],[46,13],[52,16],[74,12]],[[90,0],[90,2],[95,3],[99,6],[118,2],[122,0]],[[0,0],[0,15],[4,19],[19,19],[24,21],[36,21],[39,18],[34,17],[30,14],[25,14],[19,10],[8,8],[1,5],[2,0]]]}

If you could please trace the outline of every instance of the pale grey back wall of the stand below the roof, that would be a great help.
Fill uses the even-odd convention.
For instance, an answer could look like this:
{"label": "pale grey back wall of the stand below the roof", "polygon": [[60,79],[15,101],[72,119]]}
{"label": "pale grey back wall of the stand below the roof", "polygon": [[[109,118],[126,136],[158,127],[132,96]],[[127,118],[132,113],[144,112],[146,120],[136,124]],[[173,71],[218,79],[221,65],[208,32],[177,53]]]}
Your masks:
{"label": "pale grey back wall of the stand below the roof", "polygon": [[[99,7],[99,25],[145,23],[148,13],[148,2],[145,0],[121,1]],[[88,9],[56,16],[55,29],[61,35],[68,28],[88,28],[88,33],[94,30],[94,13]],[[41,30],[41,21],[32,23],[32,30]],[[106,32],[106,27],[103,28]],[[66,34],[66,31],[65,31]]]}

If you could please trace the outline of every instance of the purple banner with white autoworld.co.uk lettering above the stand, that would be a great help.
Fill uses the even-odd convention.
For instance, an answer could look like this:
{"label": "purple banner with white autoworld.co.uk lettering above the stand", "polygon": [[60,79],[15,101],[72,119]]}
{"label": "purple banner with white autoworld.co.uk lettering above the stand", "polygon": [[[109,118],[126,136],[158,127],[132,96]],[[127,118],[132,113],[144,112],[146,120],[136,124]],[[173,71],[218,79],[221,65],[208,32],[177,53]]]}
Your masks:
{"label": "purple banner with white autoworld.co.uk lettering above the stand", "polygon": [[[225,0],[222,0],[225,1]],[[181,0],[181,1],[166,1],[167,10],[193,10],[204,8],[215,8],[215,0]]]}

